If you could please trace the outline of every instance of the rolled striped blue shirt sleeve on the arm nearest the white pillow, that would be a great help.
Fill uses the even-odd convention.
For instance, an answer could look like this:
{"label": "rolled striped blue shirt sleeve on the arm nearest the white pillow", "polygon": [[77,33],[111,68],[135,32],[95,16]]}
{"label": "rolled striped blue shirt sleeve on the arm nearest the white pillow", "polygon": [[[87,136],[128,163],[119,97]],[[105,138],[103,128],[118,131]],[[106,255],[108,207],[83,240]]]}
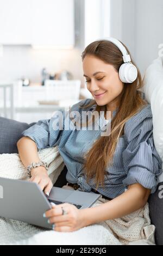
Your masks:
{"label": "rolled striped blue shirt sleeve on the arm nearest the white pillow", "polygon": [[122,157],[127,176],[123,185],[139,183],[154,193],[162,173],[162,161],[154,146],[152,112],[138,114],[124,128],[124,136],[127,148]]}

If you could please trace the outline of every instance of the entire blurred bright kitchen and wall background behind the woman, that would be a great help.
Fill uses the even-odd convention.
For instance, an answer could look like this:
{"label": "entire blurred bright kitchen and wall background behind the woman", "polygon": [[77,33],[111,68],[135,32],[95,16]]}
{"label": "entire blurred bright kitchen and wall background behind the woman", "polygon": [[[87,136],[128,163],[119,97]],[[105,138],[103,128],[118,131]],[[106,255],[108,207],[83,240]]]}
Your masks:
{"label": "entire blurred bright kitchen and wall background behind the woman", "polygon": [[163,43],[162,0],[0,0],[0,115],[31,123],[91,97],[81,54],[126,44],[143,76]]}

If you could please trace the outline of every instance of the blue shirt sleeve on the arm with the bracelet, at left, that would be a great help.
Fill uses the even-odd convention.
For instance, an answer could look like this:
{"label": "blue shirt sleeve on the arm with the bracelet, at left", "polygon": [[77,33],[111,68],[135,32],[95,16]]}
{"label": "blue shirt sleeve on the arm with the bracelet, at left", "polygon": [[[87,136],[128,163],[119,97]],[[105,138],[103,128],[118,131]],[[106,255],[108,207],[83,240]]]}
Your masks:
{"label": "blue shirt sleeve on the arm with the bracelet, at left", "polygon": [[64,118],[64,111],[55,111],[51,119],[38,121],[23,131],[22,135],[31,138],[39,150],[59,145],[64,130]]}

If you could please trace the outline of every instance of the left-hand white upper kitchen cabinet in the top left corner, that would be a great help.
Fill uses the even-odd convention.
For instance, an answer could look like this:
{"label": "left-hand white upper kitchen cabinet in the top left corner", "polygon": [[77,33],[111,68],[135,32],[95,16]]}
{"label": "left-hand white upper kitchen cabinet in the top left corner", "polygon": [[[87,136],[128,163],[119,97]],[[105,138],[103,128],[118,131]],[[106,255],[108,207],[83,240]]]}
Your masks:
{"label": "left-hand white upper kitchen cabinet in the top left corner", "polygon": [[0,0],[0,44],[31,43],[31,1]]}

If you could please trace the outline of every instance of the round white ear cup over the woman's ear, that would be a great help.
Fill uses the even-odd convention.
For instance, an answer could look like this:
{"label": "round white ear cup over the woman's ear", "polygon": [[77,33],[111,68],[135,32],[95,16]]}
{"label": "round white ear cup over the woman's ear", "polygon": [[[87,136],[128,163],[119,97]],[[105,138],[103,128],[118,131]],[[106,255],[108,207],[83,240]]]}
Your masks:
{"label": "round white ear cup over the woman's ear", "polygon": [[119,70],[120,80],[123,83],[133,83],[137,78],[137,68],[131,63],[124,63]]}

